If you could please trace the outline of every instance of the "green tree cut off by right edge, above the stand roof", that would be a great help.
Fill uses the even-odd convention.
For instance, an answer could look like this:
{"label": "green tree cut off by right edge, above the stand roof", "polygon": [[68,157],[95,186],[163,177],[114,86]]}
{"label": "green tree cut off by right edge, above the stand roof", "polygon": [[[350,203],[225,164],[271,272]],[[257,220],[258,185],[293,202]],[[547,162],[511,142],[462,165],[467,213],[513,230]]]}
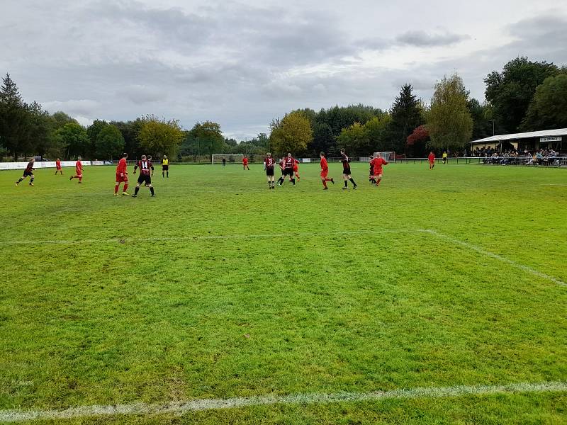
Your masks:
{"label": "green tree cut off by right edge, above the stand roof", "polygon": [[567,74],[548,77],[538,86],[521,129],[553,130],[567,127]]}

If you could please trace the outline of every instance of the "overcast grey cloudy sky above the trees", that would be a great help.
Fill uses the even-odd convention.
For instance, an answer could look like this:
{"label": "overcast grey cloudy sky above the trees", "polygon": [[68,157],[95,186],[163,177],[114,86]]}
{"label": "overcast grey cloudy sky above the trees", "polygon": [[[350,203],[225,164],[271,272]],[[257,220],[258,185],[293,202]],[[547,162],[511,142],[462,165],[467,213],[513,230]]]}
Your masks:
{"label": "overcast grey cloudy sky above the trees", "polygon": [[238,140],[296,108],[430,101],[519,55],[567,63],[567,1],[0,0],[0,73],[83,125],[153,113]]}

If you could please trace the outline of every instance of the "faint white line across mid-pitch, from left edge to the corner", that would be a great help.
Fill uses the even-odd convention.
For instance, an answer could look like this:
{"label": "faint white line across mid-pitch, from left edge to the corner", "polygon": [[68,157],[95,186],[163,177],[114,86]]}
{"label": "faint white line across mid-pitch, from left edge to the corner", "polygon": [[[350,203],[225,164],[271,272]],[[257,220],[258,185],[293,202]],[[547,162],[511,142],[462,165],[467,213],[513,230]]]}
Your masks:
{"label": "faint white line across mid-pitch, from left edge to the corner", "polygon": [[296,232],[296,233],[264,233],[264,234],[201,234],[193,236],[181,237],[123,237],[111,239],[47,239],[47,240],[18,240],[18,241],[0,241],[0,245],[33,245],[33,244],[108,244],[108,243],[125,243],[125,242],[169,242],[169,241],[191,241],[191,240],[207,240],[207,239],[262,239],[271,237],[327,237],[340,236],[342,234],[384,234],[384,233],[427,233],[426,229],[392,229],[392,230],[352,230],[344,232]]}

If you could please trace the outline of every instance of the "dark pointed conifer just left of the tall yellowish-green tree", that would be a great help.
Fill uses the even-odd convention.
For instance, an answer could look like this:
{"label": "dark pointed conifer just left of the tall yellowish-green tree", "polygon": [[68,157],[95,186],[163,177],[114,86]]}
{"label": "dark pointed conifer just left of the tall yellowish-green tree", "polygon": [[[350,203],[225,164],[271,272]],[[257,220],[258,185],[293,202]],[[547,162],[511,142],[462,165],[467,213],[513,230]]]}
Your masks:
{"label": "dark pointed conifer just left of the tall yellowish-green tree", "polygon": [[414,128],[424,123],[420,101],[412,94],[411,84],[404,84],[400,94],[395,98],[388,125],[388,149],[395,152],[405,152],[405,141]]}

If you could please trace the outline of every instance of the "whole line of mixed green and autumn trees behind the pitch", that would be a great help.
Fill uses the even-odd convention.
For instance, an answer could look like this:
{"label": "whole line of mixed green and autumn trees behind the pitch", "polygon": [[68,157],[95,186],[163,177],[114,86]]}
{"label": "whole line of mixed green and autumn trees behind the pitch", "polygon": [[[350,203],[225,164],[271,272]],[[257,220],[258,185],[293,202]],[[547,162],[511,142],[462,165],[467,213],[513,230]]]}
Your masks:
{"label": "whole line of mixed green and autumn trees behind the pitch", "polygon": [[251,140],[223,136],[212,121],[183,130],[178,120],[145,115],[130,121],[95,120],[84,128],[59,111],[48,113],[26,103],[9,74],[0,88],[0,157],[39,155],[70,159],[115,159],[122,152],[167,154],[178,160],[203,160],[211,154],[263,155],[294,152],[317,157],[393,151],[422,156],[427,150],[466,149],[471,140],[495,134],[567,127],[567,67],[517,57],[484,79],[485,100],[471,98],[458,74],[437,81],[430,103],[401,87],[391,108],[362,104],[314,111],[303,108],[274,118],[269,135]]}

